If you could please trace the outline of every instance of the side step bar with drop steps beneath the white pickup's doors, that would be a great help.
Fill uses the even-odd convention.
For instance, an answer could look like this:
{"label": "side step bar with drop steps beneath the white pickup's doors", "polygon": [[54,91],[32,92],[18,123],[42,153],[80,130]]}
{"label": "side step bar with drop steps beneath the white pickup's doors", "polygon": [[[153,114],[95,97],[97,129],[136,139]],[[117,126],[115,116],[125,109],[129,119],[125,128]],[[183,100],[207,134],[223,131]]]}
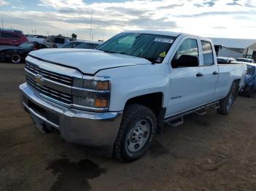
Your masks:
{"label": "side step bar with drop steps beneath the white pickup's doors", "polygon": [[177,127],[178,125],[181,125],[184,123],[185,115],[195,113],[202,116],[204,114],[207,114],[208,109],[219,109],[219,101],[213,102],[211,104],[207,104],[206,106],[200,106],[196,109],[192,109],[188,112],[184,112],[182,114],[178,114],[173,117],[169,117],[165,119],[165,122],[172,127]]}

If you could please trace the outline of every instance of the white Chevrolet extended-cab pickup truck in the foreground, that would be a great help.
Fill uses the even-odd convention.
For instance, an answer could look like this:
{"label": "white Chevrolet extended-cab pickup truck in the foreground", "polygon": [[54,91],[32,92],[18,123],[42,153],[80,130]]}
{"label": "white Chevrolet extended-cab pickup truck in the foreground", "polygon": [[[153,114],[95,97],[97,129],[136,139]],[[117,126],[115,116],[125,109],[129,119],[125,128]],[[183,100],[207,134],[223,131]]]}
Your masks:
{"label": "white Chevrolet extended-cab pickup truck in the foreground", "polygon": [[199,36],[129,31],[97,50],[31,52],[25,71],[20,101],[39,130],[132,161],[164,122],[208,107],[228,114],[246,66],[217,65],[214,44]]}

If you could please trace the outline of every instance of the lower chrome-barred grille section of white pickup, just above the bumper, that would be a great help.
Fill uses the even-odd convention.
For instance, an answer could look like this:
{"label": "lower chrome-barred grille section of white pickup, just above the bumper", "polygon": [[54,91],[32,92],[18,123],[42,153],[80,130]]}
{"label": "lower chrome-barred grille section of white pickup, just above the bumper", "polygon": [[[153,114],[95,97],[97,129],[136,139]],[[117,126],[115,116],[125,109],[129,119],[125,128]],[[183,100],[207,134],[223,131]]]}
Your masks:
{"label": "lower chrome-barred grille section of white pickup, just above the bumper", "polygon": [[64,104],[72,104],[72,95],[67,93],[61,93],[57,90],[53,90],[50,87],[42,86],[37,84],[33,79],[26,77],[26,82],[30,87],[32,87],[37,92],[41,93],[42,95],[46,95],[50,98],[53,98],[56,101],[61,101]]}

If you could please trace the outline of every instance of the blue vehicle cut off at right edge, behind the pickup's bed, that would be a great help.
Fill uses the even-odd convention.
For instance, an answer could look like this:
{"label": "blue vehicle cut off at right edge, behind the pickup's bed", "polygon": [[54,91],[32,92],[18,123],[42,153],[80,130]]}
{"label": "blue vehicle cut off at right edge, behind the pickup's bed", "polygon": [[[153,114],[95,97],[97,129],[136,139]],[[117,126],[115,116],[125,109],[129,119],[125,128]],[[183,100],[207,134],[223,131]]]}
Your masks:
{"label": "blue vehicle cut off at right edge, behind the pickup's bed", "polygon": [[256,91],[256,63],[247,63],[247,73],[244,80],[244,85],[239,92],[239,95],[251,97]]}

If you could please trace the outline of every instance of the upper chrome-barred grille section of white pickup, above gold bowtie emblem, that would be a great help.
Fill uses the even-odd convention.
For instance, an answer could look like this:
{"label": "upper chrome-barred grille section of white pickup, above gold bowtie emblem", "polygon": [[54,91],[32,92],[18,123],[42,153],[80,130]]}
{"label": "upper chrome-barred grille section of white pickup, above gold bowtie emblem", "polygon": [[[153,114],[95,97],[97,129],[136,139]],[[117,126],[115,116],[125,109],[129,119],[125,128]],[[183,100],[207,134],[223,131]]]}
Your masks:
{"label": "upper chrome-barred grille section of white pickup, above gold bowtie emblem", "polygon": [[40,69],[38,66],[34,65],[33,63],[26,62],[25,68],[35,75],[39,74],[45,79],[50,79],[54,82],[59,82],[64,85],[72,86],[73,79],[72,77],[65,76],[63,74],[57,74],[53,71],[48,71],[45,69]]}

